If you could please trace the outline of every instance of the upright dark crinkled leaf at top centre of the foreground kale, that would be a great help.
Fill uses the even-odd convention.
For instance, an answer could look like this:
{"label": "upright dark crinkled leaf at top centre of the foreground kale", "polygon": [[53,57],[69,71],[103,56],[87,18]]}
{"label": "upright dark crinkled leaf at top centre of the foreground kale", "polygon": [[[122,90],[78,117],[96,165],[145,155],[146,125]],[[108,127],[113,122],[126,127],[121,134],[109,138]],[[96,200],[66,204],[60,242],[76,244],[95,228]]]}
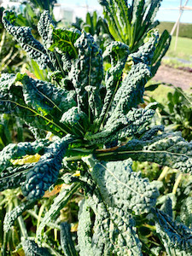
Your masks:
{"label": "upright dark crinkled leaf at top centre of the foreground kale", "polygon": [[[99,96],[99,88],[102,83],[103,67],[102,67],[102,51],[94,42],[90,34],[83,32],[76,40],[74,47],[78,50],[78,59],[74,60],[68,80],[72,82],[77,93],[78,107],[84,113],[89,113],[90,107],[87,106],[88,92],[86,86],[96,87],[96,94]],[[96,102],[95,102],[96,104]],[[97,113],[101,106],[96,106]]]}

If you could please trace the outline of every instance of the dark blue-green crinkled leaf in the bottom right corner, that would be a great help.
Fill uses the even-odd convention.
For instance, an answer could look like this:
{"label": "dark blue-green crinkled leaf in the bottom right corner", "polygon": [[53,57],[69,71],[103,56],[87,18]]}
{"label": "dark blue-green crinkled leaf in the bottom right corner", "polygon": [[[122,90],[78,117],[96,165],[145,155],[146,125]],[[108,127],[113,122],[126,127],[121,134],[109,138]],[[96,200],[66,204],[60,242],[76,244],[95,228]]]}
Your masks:
{"label": "dark blue-green crinkled leaf in the bottom right corner", "polygon": [[163,241],[169,256],[190,256],[192,252],[192,230],[184,224],[173,221],[172,218],[160,210],[153,209],[157,233]]}

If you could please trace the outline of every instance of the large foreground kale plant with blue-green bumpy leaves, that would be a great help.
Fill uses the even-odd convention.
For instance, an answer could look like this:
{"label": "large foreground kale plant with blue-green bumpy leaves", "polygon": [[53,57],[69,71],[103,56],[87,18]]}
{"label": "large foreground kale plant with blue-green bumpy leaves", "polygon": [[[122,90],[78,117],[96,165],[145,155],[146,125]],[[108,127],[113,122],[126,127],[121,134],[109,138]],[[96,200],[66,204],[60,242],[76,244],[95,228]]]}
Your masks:
{"label": "large foreground kale plant with blue-green bumpy leaves", "polygon": [[[54,84],[25,73],[3,74],[0,79],[1,113],[19,116],[37,138],[9,144],[0,152],[0,189],[20,187],[26,197],[6,214],[6,234],[22,212],[63,183],[44,218],[38,218],[37,243],[22,232],[26,255],[51,255],[51,245],[44,247],[48,234],[44,229],[54,222],[61,230],[65,255],[143,255],[147,245],[137,233],[139,218],[158,233],[160,250],[165,247],[170,256],[191,255],[192,231],[174,221],[171,200],[163,211],[156,207],[157,183],[131,169],[132,160],[139,160],[192,173],[192,144],[180,132],[166,133],[162,125],[150,127],[154,110],[138,107],[151,76],[158,32],[149,32],[122,79],[129,56],[126,44],[113,42],[102,55],[90,34],[55,28],[47,11],[38,23],[40,44],[30,28],[13,26],[10,15],[3,14],[5,28],[41,68],[49,68]],[[107,57],[111,67],[104,77]],[[55,141],[44,137],[43,131],[55,135]],[[33,161],[24,161],[30,156]],[[78,237],[73,240],[70,227],[58,226],[56,219],[77,191],[84,199],[79,203]]]}

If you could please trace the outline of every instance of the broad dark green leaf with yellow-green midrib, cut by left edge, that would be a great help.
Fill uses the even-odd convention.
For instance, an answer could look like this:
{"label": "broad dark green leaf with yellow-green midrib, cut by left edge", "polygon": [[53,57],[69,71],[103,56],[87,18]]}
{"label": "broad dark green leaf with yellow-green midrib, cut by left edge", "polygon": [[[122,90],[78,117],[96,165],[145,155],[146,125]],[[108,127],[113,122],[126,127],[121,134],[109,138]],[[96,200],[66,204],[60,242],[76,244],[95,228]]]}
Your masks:
{"label": "broad dark green leaf with yellow-green midrib, cut by left edge", "polygon": [[5,79],[6,76],[0,79],[0,112],[14,113],[27,125],[51,131],[59,137],[70,132],[59,120],[63,112],[76,105],[73,91],[67,93],[67,90],[31,79],[26,74],[17,73],[15,80],[11,74],[6,82]]}

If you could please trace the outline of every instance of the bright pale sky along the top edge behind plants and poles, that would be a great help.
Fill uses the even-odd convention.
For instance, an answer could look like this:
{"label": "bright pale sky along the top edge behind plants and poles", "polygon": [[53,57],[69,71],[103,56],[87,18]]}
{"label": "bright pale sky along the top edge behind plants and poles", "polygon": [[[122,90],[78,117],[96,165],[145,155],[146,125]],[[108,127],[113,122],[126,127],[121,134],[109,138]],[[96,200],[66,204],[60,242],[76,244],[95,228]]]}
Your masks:
{"label": "bright pale sky along the top edge behind plants and poles", "polygon": [[[84,17],[86,13],[86,3],[89,6],[89,10],[93,11],[97,9],[99,13],[102,14],[101,5],[97,0],[57,0],[58,3],[61,3],[63,6],[66,6],[71,9],[77,9],[75,15]],[[130,1],[131,2],[131,1]],[[186,0],[182,1],[183,4]],[[157,14],[157,20],[160,21],[176,21],[179,15],[179,10],[165,10],[165,8],[177,8],[180,5],[180,0],[163,0],[161,3],[161,8]],[[192,0],[189,0],[188,7],[192,7]],[[192,24],[192,10],[185,10],[183,12],[181,22],[191,23]]]}

